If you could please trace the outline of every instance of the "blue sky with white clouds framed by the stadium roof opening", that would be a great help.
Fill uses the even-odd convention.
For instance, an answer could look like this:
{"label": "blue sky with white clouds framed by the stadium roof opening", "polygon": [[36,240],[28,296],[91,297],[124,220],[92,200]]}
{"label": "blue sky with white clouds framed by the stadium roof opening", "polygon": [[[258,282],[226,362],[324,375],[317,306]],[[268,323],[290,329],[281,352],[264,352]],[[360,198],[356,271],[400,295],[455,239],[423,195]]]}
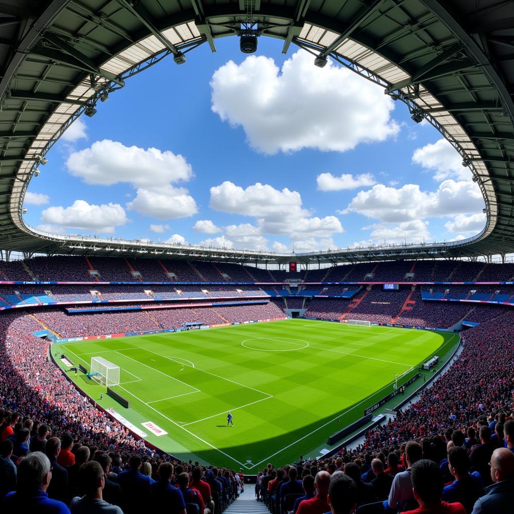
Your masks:
{"label": "blue sky with white clouds framed by the stadium roof opening", "polygon": [[462,159],[380,87],[273,39],[251,57],[236,38],[216,47],[161,61],[75,122],[30,183],[26,222],[276,251],[484,226]]}

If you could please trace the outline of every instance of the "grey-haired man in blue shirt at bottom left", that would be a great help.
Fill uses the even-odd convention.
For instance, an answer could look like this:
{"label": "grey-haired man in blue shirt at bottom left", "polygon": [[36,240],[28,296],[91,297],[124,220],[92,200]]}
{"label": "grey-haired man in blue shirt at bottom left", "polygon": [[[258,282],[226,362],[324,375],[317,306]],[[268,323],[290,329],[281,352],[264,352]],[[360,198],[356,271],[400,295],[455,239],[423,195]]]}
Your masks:
{"label": "grey-haired man in blue shirt at bottom left", "polygon": [[48,498],[52,479],[48,457],[41,452],[29,453],[20,461],[16,491],[4,498],[4,512],[34,512],[36,514],[70,514],[63,502]]}

